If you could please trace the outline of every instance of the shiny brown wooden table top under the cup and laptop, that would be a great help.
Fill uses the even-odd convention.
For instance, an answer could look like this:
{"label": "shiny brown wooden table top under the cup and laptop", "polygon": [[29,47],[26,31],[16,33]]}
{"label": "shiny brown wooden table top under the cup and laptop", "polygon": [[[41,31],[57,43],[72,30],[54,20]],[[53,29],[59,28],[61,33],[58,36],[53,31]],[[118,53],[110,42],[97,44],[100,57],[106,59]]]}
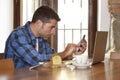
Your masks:
{"label": "shiny brown wooden table top under the cup and laptop", "polygon": [[88,69],[37,67],[15,69],[11,80],[120,80],[120,60],[106,59]]}

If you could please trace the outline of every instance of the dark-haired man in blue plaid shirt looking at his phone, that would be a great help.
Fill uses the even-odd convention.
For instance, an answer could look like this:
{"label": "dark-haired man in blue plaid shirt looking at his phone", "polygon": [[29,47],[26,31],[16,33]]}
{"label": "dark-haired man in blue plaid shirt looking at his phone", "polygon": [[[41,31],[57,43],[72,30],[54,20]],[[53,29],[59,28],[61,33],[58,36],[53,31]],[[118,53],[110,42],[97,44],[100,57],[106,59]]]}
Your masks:
{"label": "dark-haired man in blue plaid shirt looking at his phone", "polygon": [[[49,61],[55,53],[49,46],[47,38],[55,35],[57,22],[60,21],[55,11],[47,6],[39,7],[32,18],[24,26],[15,29],[6,41],[5,58],[13,58],[16,68],[37,65],[41,61]],[[82,45],[80,47],[79,45]],[[57,53],[65,59],[86,49],[86,41],[78,45],[68,44],[63,52]]]}

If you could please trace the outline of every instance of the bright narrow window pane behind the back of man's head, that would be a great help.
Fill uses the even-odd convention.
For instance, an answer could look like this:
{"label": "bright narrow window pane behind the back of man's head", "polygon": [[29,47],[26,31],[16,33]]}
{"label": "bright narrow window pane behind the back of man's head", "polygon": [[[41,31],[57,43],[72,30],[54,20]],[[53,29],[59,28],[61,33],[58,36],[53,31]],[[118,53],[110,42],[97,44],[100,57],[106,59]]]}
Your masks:
{"label": "bright narrow window pane behind the back of man's head", "polygon": [[38,8],[38,0],[21,0],[21,25],[32,20],[35,9]]}

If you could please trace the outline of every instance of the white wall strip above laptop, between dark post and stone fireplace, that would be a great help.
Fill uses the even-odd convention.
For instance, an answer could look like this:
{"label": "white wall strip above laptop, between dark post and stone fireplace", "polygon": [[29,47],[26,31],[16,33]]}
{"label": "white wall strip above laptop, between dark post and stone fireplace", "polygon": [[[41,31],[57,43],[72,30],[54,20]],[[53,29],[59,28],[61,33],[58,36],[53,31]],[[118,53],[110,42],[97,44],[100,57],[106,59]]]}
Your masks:
{"label": "white wall strip above laptop, between dark post and stone fireplace", "polygon": [[98,31],[109,31],[110,13],[108,0],[98,0]]}

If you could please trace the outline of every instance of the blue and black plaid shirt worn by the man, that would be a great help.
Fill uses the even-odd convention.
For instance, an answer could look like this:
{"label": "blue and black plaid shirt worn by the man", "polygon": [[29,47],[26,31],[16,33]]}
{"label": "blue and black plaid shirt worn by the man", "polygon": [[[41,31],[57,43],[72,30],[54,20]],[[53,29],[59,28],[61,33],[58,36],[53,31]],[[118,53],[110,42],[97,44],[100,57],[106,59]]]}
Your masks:
{"label": "blue and black plaid shirt worn by the man", "polygon": [[13,58],[16,68],[34,66],[40,61],[49,61],[54,50],[43,38],[38,38],[38,52],[35,49],[36,39],[30,29],[30,22],[15,29],[6,41],[5,58]]}

